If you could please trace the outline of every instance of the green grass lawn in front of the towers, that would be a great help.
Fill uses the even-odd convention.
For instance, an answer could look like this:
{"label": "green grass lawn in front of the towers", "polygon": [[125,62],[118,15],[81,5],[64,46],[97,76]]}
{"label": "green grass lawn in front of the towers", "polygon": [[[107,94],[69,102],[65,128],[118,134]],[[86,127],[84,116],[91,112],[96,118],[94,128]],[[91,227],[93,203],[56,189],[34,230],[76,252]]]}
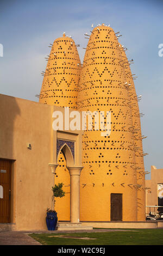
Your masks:
{"label": "green grass lawn in front of the towers", "polygon": [[[74,237],[65,238],[58,236]],[[30,234],[42,245],[163,245],[163,229],[129,229],[100,233]],[[93,240],[78,239],[89,237]]]}

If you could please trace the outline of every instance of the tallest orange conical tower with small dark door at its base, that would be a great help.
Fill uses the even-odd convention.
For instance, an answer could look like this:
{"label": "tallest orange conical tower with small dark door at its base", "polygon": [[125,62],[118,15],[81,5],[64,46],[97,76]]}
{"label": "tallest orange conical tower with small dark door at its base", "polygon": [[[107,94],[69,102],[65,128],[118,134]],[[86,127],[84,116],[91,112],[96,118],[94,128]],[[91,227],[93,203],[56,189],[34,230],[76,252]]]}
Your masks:
{"label": "tallest orange conical tower with small dark door at its base", "polygon": [[94,28],[80,74],[78,109],[111,112],[109,136],[84,132],[81,221],[137,221],[134,124],[117,37],[108,26]]}

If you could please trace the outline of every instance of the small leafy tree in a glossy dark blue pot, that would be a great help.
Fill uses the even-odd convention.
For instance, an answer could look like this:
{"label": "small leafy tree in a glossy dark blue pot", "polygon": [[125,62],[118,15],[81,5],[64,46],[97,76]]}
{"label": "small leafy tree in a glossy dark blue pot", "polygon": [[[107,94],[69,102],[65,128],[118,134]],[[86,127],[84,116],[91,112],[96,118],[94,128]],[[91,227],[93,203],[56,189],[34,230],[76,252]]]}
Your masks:
{"label": "small leafy tree in a glossy dark blue pot", "polygon": [[58,183],[55,184],[54,187],[52,187],[52,191],[53,191],[53,196],[52,196],[52,209],[47,209],[46,213],[46,224],[47,224],[47,228],[48,230],[55,230],[55,227],[57,225],[58,222],[58,217],[57,217],[57,212],[54,210],[55,209],[55,197],[64,197],[65,196],[65,192],[62,190],[62,186],[64,184],[62,183]]}

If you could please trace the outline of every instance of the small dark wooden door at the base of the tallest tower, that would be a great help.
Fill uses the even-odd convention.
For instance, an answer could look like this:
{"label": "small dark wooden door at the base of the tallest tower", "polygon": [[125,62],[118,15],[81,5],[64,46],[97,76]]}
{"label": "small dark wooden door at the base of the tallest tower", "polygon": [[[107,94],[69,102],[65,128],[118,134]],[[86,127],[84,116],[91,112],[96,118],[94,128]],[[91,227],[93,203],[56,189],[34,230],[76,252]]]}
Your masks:
{"label": "small dark wooden door at the base of the tallest tower", "polygon": [[122,194],[111,193],[111,221],[122,221]]}

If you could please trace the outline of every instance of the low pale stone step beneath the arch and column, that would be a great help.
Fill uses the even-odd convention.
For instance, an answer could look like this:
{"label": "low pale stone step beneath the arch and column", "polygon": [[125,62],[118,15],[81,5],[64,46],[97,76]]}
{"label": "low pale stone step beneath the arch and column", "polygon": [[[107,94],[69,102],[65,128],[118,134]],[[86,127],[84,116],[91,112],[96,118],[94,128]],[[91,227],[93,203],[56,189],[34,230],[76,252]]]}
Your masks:
{"label": "low pale stone step beneath the arch and column", "polygon": [[71,223],[71,222],[59,222],[57,223],[56,230],[92,230],[93,227],[90,225],[84,225],[81,222]]}

